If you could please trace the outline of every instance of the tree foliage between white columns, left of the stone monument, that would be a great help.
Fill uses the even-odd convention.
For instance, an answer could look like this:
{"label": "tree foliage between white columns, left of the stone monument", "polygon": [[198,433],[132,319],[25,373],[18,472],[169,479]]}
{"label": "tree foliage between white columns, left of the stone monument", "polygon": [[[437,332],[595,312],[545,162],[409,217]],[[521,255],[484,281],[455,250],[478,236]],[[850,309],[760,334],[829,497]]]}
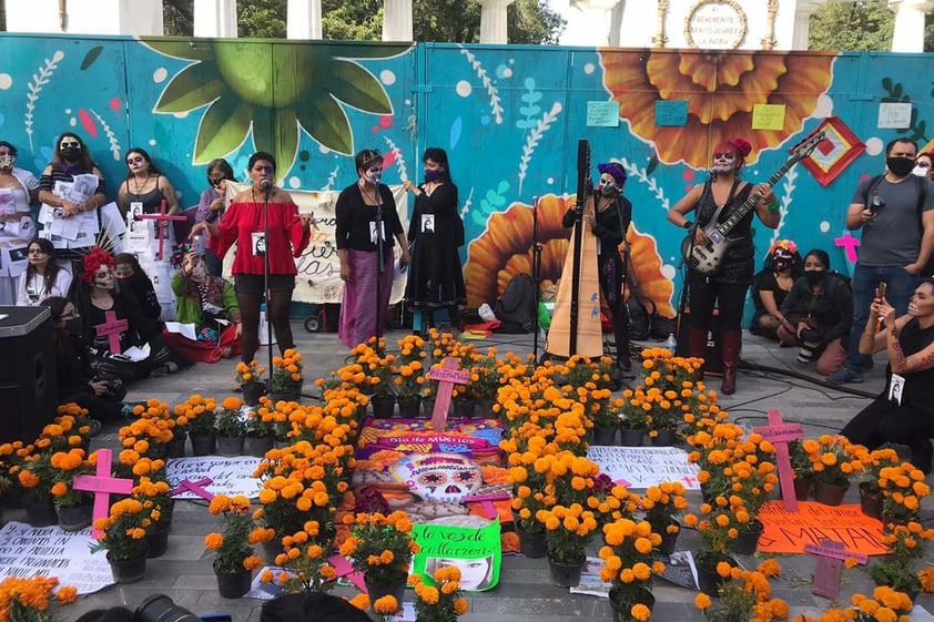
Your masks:
{"label": "tree foliage between white columns, left of the stone monument", "polygon": [[[383,38],[383,0],[322,0],[325,39],[379,41]],[[164,0],[165,34],[191,35],[192,0]],[[416,41],[477,43],[480,4],[473,0],[413,0],[413,37]],[[546,0],[516,0],[507,9],[509,43],[554,44],[566,21]],[[278,39],[286,32],[286,0],[238,0],[240,37]]]}

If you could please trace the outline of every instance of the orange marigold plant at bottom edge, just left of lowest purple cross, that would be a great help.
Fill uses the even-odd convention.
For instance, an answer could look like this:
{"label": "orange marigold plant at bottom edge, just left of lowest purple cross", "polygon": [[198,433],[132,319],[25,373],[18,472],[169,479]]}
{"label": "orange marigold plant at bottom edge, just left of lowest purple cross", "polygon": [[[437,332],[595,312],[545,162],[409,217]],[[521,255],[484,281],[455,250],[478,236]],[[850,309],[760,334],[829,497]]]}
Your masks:
{"label": "orange marigold plant at bottom edge, just left of lowest purple cross", "polygon": [[781,572],[779,562],[769,559],[755,570],[730,568],[729,581],[720,585],[720,600],[714,606],[709,594],[700,593],[694,598],[694,606],[703,612],[709,622],[738,622],[755,620],[770,622],[788,618],[788,603],[772,598],[769,578]]}

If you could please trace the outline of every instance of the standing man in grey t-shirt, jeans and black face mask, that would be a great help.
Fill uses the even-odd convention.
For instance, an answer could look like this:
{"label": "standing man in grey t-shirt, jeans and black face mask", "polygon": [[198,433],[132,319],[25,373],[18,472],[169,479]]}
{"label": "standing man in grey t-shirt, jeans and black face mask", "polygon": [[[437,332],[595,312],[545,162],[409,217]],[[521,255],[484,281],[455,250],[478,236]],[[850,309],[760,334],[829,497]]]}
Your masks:
{"label": "standing man in grey t-shirt, jeans and black face mask", "polygon": [[[885,173],[863,181],[846,212],[846,228],[863,230],[853,269],[853,324],[846,366],[828,376],[834,385],[862,383],[872,357],[860,353],[861,333],[880,283],[886,299],[904,315],[924,266],[934,253],[934,185],[912,175],[917,145],[895,139],[885,147]],[[930,274],[926,276],[931,276]]]}

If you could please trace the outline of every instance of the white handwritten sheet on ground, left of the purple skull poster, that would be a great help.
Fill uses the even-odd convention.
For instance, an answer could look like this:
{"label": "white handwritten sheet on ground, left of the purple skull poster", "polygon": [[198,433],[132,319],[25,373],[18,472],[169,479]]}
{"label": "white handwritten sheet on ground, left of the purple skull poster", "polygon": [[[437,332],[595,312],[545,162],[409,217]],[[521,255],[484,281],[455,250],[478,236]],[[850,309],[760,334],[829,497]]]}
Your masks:
{"label": "white handwritten sheet on ground, left of the purple skull poster", "polygon": [[[220,456],[203,456],[195,458],[176,458],[169,460],[165,471],[173,488],[181,487],[182,481],[197,481],[205,478],[211,483],[204,488],[211,494],[226,494],[233,497],[244,494],[251,499],[260,496],[262,482],[253,477],[253,471],[260,465],[260,458],[241,456],[237,458],[222,458]],[[175,499],[201,499],[191,489],[185,489]]]}

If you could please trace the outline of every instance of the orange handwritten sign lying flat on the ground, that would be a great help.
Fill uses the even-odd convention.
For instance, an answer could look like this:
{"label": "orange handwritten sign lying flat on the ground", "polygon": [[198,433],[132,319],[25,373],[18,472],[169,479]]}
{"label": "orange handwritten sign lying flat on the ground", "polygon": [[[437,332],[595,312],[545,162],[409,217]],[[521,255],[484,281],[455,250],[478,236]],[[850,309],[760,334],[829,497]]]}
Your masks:
{"label": "orange handwritten sign lying flat on the ground", "polygon": [[884,555],[882,523],[865,516],[860,506],[824,506],[802,501],[789,512],[781,501],[769,501],[759,513],[765,530],[759,538],[762,553],[804,553],[806,544],[841,542],[846,551]]}

